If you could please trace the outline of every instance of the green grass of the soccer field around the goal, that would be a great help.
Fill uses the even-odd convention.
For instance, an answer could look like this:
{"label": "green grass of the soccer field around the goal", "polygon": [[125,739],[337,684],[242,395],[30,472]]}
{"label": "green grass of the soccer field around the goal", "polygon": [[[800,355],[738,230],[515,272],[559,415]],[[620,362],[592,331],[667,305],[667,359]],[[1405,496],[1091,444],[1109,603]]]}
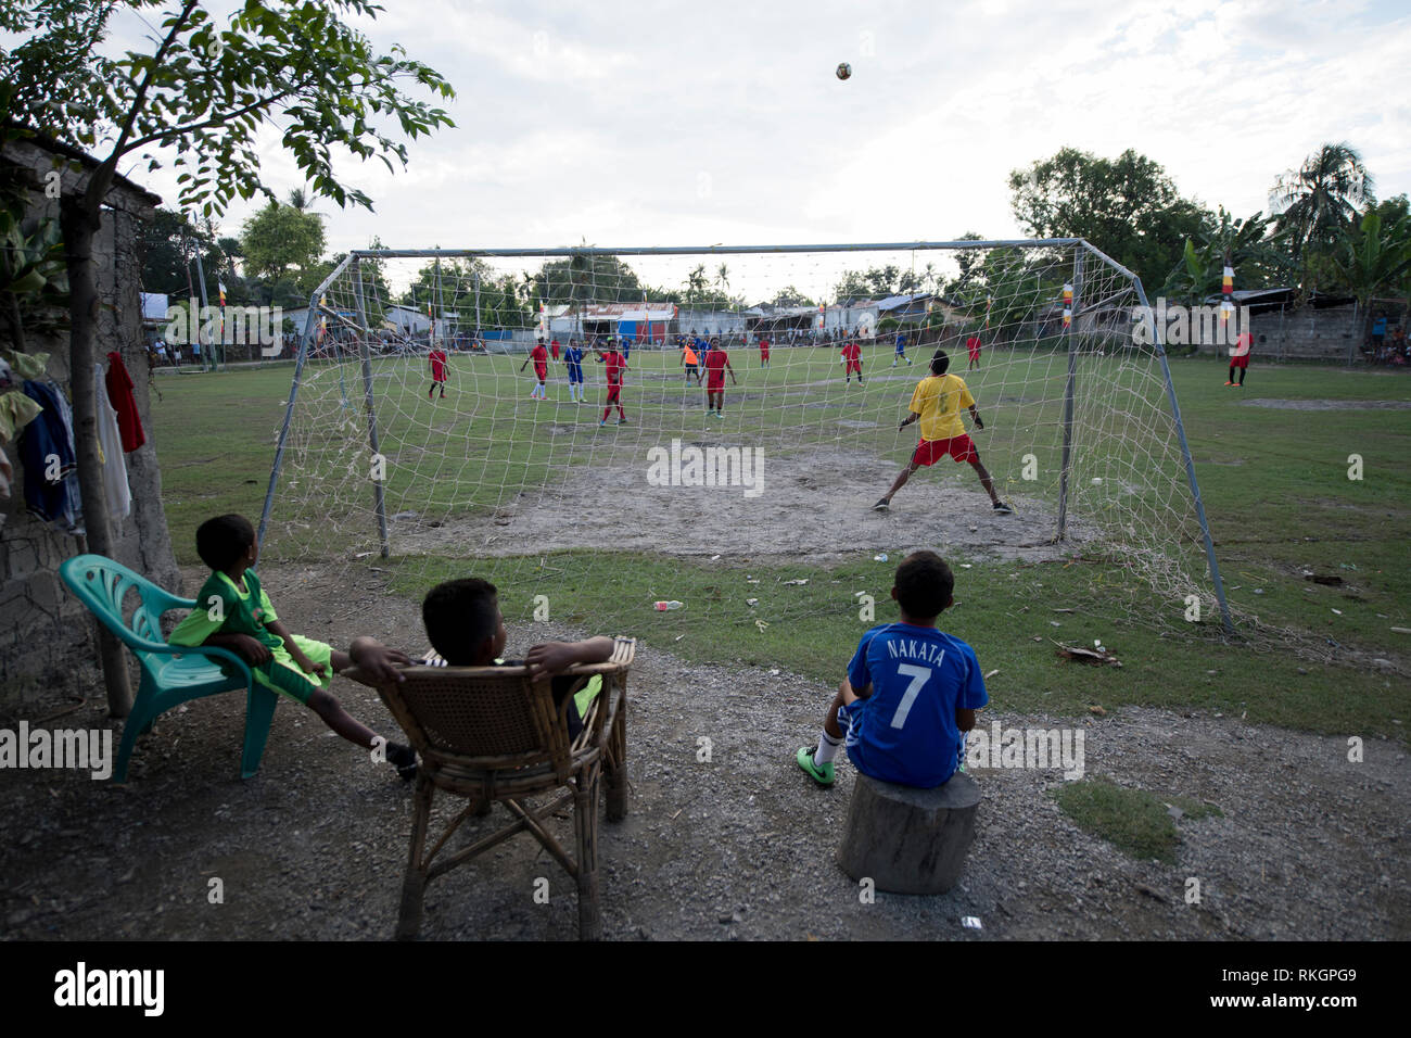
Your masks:
{"label": "green grass of the soccer field around the goal", "polygon": [[[518,489],[543,483],[550,475],[559,477],[567,467],[639,458],[648,442],[674,435],[756,441],[783,449],[801,426],[809,451],[840,445],[895,459],[896,467],[914,442],[913,429],[897,435],[895,419],[904,414],[919,366],[895,373],[888,349],[868,354],[865,387],[842,384],[831,350],[776,349],[773,367],[763,371],[756,352],[731,357],[744,386],[729,387],[725,419],[711,421],[704,418],[701,391],[694,386],[686,391],[677,383],[674,354],[634,352],[634,371],[624,393],[632,424],[604,429],[597,428],[601,369],[591,362],[586,364],[590,402],[581,407],[567,402],[562,369],[550,376],[556,384],[550,386],[549,402],[526,400],[531,383],[528,374],[518,374],[519,360],[514,357],[453,357],[446,404],[425,400],[423,362],[375,362],[378,414],[388,445],[388,496],[404,500],[408,491],[419,494],[429,513],[495,508]],[[1005,496],[1037,493],[1019,479],[1026,453],[1036,455],[1041,473],[1057,472],[1055,441],[1036,431],[1055,428],[1064,363],[1064,357],[1050,353],[995,353],[986,356],[982,370],[959,371],[985,417],[988,428],[976,442]],[[1098,363],[1085,360],[1079,377],[1091,377],[1088,366]],[[361,384],[350,381],[349,371],[356,369],[344,370],[340,388],[329,381],[337,377],[337,369],[316,369],[305,388],[315,391],[310,398],[333,401],[337,421],[350,422],[358,432]],[[183,562],[196,561],[192,539],[202,518],[223,511],[258,515],[291,374],[292,367],[285,364],[158,377],[162,400],[152,405],[155,441],[172,539]],[[878,377],[892,374],[897,377]],[[1292,628],[1300,637],[1284,650],[1264,644],[1252,651],[1184,637],[1178,626],[1113,623],[1120,610],[1086,606],[1143,595],[1144,585],[1130,571],[1102,562],[1005,562],[983,554],[952,554],[954,563],[969,565],[957,569],[958,604],[944,626],[976,647],[988,671],[999,671],[989,681],[992,699],[1016,710],[1061,715],[1143,703],[1246,713],[1250,720],[1404,740],[1405,726],[1398,722],[1408,713],[1405,679],[1370,660],[1388,660],[1404,674],[1411,655],[1411,636],[1390,630],[1411,627],[1411,592],[1405,586],[1411,411],[1355,404],[1405,404],[1411,401],[1411,383],[1381,373],[1256,363],[1246,388],[1232,390],[1222,386],[1223,366],[1211,360],[1173,362],[1173,374],[1230,602],[1242,614]],[[1141,377],[1129,371],[1109,384]],[[474,393],[467,391],[471,383]],[[344,391],[347,408],[341,407]],[[1301,411],[1239,402],[1247,398],[1332,400],[1352,407]],[[1118,421],[1130,422],[1130,428],[1105,429],[1109,442],[1130,443],[1133,449],[1130,455],[1119,451],[1110,459],[1091,462],[1079,452],[1079,503],[1101,501],[1082,496],[1105,494],[1113,484],[1140,484],[1154,465],[1134,446],[1143,442],[1141,432],[1151,418],[1127,415]],[[340,439],[327,428],[332,424],[325,421],[310,435],[326,435],[330,443]],[[356,435],[351,442],[357,443]],[[1349,479],[1349,455],[1362,458],[1360,480]],[[341,466],[353,484],[346,500],[299,497],[298,490],[289,497],[309,514],[322,507],[330,524],[320,534],[325,547],[346,558],[344,538],[332,531],[341,515],[361,510],[356,518],[363,534],[368,532],[371,494],[360,473],[365,451],[334,453],[327,463],[333,470]],[[480,472],[491,477],[470,477]],[[937,493],[937,483],[943,490],[972,489],[975,483],[968,472],[926,477],[930,483],[921,484],[919,476],[917,486],[903,494],[914,493],[921,500]],[[1101,490],[1092,489],[1091,477],[1105,479]],[[871,497],[862,507],[882,489],[866,487]],[[1161,515],[1160,507],[1157,501],[1151,514]],[[1173,521],[1184,521],[1175,507],[1168,514]],[[663,523],[708,523],[708,517],[663,517]],[[844,558],[814,565],[807,558],[711,563],[700,554],[632,551],[607,556],[598,545],[583,545],[536,554],[526,562],[514,556],[468,558],[471,552],[449,542],[443,554],[394,554],[392,559],[378,561],[378,568],[392,592],[408,596],[466,572],[521,589],[507,592],[504,600],[514,633],[516,621],[531,617],[525,575],[526,566],[538,566],[555,573],[556,614],[581,620],[584,627],[626,627],[643,636],[648,645],[669,647],[691,660],[738,660],[835,681],[859,633],[855,592],[876,596],[879,621],[893,617],[886,609],[886,589],[896,559],[873,562],[871,551],[847,558],[848,531],[816,530],[806,514],[799,517],[799,538]],[[1314,583],[1304,579],[1305,571],[1342,583]],[[610,582],[604,573],[611,575]],[[746,578],[758,583],[746,585]],[[783,583],[804,578],[807,585]],[[766,603],[787,596],[789,607],[756,617],[756,610],[744,604],[746,592]],[[689,607],[652,613],[649,603],[662,597],[680,599]],[[1060,613],[1055,610],[1064,606],[1058,603],[1077,603],[1079,610]],[[763,616],[770,617],[766,626],[756,626],[753,620]],[[1058,660],[1050,638],[1068,644],[1101,638],[1125,665],[1091,669]],[[1333,662],[1295,654],[1295,643],[1304,650],[1322,647]],[[1359,662],[1345,665],[1352,658]]]}

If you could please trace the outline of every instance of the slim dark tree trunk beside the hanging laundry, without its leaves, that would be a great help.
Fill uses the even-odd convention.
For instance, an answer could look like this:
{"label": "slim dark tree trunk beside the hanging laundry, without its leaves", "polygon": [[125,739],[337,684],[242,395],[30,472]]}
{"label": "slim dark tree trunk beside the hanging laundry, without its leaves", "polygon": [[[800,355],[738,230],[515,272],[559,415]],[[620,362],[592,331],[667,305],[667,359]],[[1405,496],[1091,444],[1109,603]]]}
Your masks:
{"label": "slim dark tree trunk beside the hanging laundry, without its leaves", "polygon": [[[103,493],[103,466],[99,462],[93,381],[93,340],[102,308],[97,268],[93,263],[93,239],[102,223],[97,206],[93,209],[95,212],[89,212],[83,198],[66,196],[59,202],[59,226],[63,230],[69,274],[69,387],[73,394],[73,449],[78,455],[79,493],[83,497],[83,527],[87,531],[89,551],[113,558],[113,531]],[[133,691],[127,679],[123,644],[103,624],[97,626],[97,640],[109,712],[114,717],[126,717],[133,708]]]}

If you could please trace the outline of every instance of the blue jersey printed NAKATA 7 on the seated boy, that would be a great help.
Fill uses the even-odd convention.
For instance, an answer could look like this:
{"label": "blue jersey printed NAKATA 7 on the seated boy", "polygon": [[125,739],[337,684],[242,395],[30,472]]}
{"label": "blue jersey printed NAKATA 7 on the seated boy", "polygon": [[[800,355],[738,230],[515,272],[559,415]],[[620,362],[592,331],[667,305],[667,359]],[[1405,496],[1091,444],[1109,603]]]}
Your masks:
{"label": "blue jersey printed NAKATA 7 on the seated boy", "polygon": [[961,733],[955,710],[989,702],[975,650],[934,627],[879,624],[848,664],[855,689],[872,696],[848,710],[854,767],[883,782],[940,785],[955,772]]}

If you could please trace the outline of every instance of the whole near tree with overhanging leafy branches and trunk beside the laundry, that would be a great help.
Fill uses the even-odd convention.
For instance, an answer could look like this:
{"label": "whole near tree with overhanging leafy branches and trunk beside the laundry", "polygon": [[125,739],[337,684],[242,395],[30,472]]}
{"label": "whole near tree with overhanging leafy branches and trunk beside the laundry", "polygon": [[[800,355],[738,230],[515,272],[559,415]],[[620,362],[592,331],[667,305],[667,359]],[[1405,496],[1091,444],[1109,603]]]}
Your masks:
{"label": "whole near tree with overhanging leafy branches and trunk beside the laundry", "polygon": [[[452,126],[447,114],[405,88],[453,97],[435,69],[401,47],[378,54],[344,18],[375,18],[367,0],[246,0],[224,27],[199,0],[172,0],[148,49],[113,56],[103,47],[117,10],[151,0],[11,0],[0,30],[20,42],[0,52],[0,82],[13,95],[7,119],[25,133],[96,150],[96,167],[75,171],[59,199],[69,280],[71,378],[79,489],[89,548],[113,554],[103,496],[95,401],[95,315],[100,306],[93,241],[120,165],[145,158],[148,171],[179,171],[176,205],[214,216],[236,199],[272,196],[260,175],[257,140],[270,126],[313,191],[371,208],[334,171],[333,155],[408,160],[391,134],[422,137]],[[388,129],[384,129],[388,127]],[[109,706],[130,709],[121,652],[104,655]]]}

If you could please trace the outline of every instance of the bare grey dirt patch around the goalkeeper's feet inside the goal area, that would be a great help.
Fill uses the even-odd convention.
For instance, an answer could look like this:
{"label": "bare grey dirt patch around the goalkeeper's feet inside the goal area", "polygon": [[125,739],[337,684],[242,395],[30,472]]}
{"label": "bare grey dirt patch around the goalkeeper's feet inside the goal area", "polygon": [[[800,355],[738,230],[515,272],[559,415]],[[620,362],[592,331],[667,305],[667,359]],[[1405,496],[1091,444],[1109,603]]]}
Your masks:
{"label": "bare grey dirt patch around the goalkeeper's feet inside the goal area", "polygon": [[[680,476],[689,448],[746,448],[694,441],[682,445]],[[1017,496],[1012,515],[996,514],[968,465],[943,460],[919,470],[896,494],[890,511],[872,506],[903,462],[858,453],[813,452],[807,459],[773,452],[751,455],[734,486],[670,486],[670,473],[642,462],[594,462],[566,470],[562,482],[526,490],[492,514],[449,517],[404,513],[392,523],[398,554],[478,555],[612,545],[617,551],[677,556],[729,554],[748,558],[807,555],[813,561],[858,551],[930,548],[941,555],[1040,561],[1071,555],[1091,530],[1070,523],[1070,537],[1053,544],[1054,510],[1040,499]],[[950,469],[950,472],[947,472]],[[828,531],[824,544],[814,537]],[[834,545],[832,548],[825,545]],[[835,545],[845,545],[838,549]]]}

